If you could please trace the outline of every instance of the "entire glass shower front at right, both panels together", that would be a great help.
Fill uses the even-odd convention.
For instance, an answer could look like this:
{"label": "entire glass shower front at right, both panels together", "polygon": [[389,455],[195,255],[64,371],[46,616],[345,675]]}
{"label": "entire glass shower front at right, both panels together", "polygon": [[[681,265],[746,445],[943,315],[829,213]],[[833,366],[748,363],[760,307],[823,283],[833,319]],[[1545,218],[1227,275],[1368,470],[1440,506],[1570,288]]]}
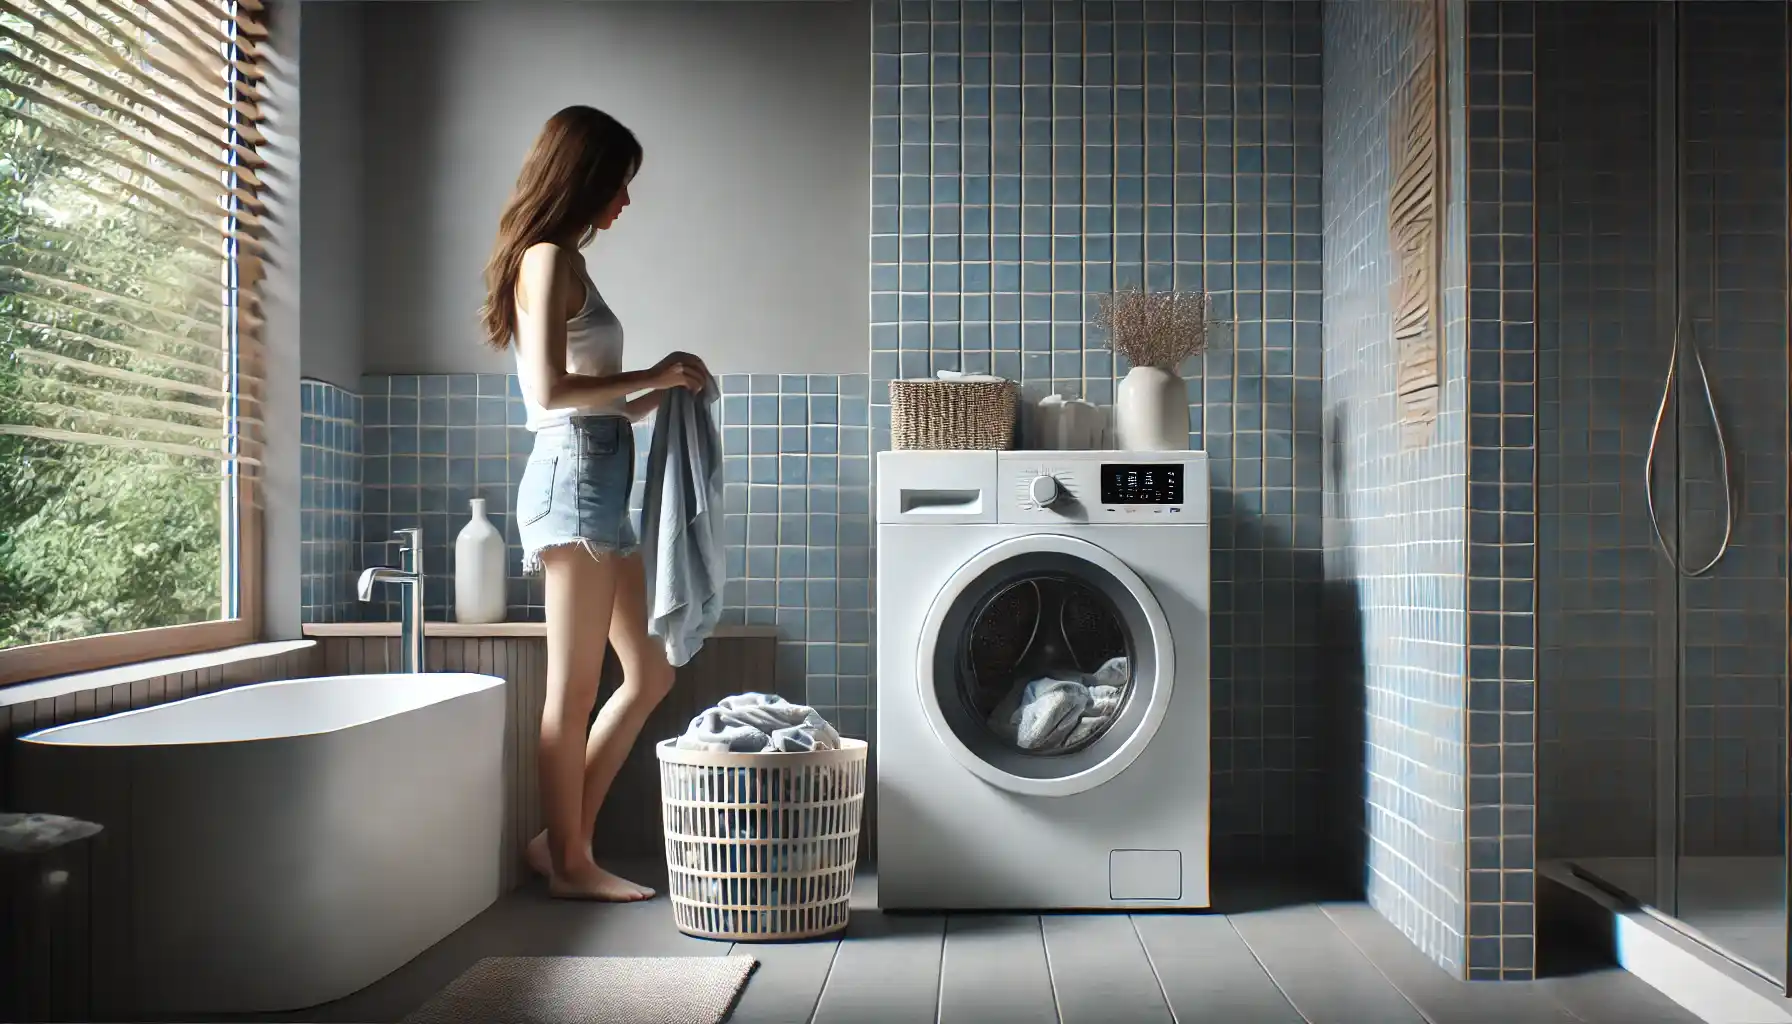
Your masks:
{"label": "entire glass shower front at right, both panels together", "polygon": [[1538,5],[1534,93],[1539,855],[1776,979],[1788,38],[1785,4]]}

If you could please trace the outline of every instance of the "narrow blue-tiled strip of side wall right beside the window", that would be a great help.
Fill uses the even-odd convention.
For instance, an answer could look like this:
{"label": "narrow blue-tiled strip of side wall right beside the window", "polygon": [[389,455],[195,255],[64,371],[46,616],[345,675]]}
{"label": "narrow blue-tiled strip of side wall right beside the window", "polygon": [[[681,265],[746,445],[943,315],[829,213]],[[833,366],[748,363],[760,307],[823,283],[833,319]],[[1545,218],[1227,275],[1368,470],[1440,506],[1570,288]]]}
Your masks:
{"label": "narrow blue-tiled strip of side wall right beside the window", "polygon": [[323,380],[299,384],[299,586],[306,622],[360,617],[360,396]]}

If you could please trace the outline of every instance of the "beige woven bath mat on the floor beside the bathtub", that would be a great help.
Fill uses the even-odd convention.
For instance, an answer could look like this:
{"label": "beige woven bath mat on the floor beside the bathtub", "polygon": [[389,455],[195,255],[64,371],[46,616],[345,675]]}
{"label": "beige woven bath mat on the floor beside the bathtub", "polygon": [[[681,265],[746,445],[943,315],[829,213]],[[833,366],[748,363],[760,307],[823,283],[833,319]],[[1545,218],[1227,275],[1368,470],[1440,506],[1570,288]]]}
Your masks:
{"label": "beige woven bath mat on the floor beside the bathtub", "polygon": [[403,1024],[720,1024],[751,956],[489,956]]}

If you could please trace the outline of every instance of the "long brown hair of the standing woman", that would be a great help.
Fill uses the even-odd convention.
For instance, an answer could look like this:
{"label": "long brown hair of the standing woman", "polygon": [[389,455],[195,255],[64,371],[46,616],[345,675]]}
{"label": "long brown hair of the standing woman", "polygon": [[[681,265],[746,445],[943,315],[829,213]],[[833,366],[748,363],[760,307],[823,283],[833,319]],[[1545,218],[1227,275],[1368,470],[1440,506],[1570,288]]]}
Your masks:
{"label": "long brown hair of the standing woman", "polygon": [[642,143],[616,118],[570,106],[548,118],[516,176],[486,260],[486,305],[478,319],[486,344],[504,350],[516,334],[516,278],[536,242],[573,235],[586,246],[597,219],[642,165]]}

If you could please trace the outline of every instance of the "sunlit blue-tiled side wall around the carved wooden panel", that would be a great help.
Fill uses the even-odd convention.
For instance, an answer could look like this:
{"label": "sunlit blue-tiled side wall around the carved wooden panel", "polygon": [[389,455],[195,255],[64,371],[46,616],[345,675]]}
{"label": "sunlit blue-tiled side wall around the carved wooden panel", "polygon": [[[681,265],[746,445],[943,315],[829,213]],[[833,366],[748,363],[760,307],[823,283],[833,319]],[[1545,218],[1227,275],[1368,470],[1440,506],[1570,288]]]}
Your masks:
{"label": "sunlit blue-tiled side wall around the carved wooden panel", "polygon": [[[1419,5],[1324,7],[1324,402],[1328,664],[1340,863],[1369,902],[1464,974],[1468,737],[1462,124],[1450,118],[1443,393],[1432,441],[1401,447],[1387,233],[1389,117]],[[1462,102],[1462,5],[1446,5],[1446,104]],[[1357,678],[1353,678],[1357,676]]]}

